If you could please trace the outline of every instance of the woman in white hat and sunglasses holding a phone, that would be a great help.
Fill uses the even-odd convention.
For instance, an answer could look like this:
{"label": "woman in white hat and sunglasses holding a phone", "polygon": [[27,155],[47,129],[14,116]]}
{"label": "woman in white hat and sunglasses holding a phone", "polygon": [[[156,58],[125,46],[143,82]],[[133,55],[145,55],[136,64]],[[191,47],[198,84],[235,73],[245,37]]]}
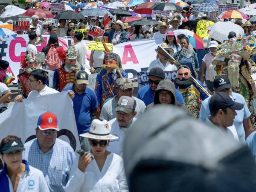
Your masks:
{"label": "woman in white hat and sunglasses holding a phone", "polygon": [[80,136],[88,138],[91,150],[76,157],[65,191],[128,192],[122,157],[106,150],[109,140],[119,138],[110,134],[108,122],[94,119],[90,131]]}

